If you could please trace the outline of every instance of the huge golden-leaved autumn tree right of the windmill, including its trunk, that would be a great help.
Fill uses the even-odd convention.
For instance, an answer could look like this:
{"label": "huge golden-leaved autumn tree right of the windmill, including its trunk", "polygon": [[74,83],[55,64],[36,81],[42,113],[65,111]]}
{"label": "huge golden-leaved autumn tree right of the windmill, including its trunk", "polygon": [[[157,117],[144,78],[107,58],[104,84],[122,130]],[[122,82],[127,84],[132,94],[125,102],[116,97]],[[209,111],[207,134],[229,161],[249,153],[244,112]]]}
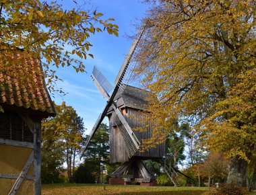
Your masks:
{"label": "huge golden-leaved autumn tree right of the windmill, including its trunk", "polygon": [[256,3],[157,2],[134,57],[135,75],[159,100],[149,106],[157,125],[146,143],[164,140],[173,118],[185,120],[231,159],[228,183],[242,186],[256,150]]}

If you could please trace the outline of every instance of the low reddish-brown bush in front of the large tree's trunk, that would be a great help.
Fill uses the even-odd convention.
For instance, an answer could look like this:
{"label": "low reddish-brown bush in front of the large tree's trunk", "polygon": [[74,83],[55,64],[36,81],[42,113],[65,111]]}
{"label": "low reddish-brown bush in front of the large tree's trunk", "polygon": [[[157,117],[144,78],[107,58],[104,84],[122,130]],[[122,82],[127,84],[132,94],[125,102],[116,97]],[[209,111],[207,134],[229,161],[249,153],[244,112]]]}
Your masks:
{"label": "low reddish-brown bush in front of the large tree's trunk", "polygon": [[246,188],[241,188],[236,184],[222,184],[216,188],[216,195],[244,195],[248,194]]}

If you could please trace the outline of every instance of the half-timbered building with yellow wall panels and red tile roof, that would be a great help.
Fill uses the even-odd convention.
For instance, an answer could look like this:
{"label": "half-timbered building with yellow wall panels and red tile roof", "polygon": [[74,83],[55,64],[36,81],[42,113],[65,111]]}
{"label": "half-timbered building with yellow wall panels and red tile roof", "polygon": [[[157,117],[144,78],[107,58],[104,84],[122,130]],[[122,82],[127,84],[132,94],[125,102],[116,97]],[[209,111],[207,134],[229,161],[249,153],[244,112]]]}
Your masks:
{"label": "half-timbered building with yellow wall panels and red tile roof", "polygon": [[[15,77],[0,71],[0,106],[4,110],[0,112],[0,194],[38,195],[41,120],[55,116],[55,109],[40,61],[22,54],[18,57],[22,65],[10,69],[15,71]],[[19,66],[23,68],[18,69]]]}

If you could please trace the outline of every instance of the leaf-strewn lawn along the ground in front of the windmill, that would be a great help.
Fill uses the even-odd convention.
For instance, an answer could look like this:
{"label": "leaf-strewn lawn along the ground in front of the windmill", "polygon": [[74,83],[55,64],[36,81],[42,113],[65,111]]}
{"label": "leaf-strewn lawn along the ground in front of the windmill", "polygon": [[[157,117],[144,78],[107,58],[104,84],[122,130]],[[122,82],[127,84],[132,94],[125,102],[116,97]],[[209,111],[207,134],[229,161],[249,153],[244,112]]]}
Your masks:
{"label": "leaf-strewn lawn along the ground in front of the windmill", "polygon": [[42,194],[210,194],[207,187],[143,187],[143,186],[105,186],[105,190],[101,185],[92,184],[47,184],[42,185]]}

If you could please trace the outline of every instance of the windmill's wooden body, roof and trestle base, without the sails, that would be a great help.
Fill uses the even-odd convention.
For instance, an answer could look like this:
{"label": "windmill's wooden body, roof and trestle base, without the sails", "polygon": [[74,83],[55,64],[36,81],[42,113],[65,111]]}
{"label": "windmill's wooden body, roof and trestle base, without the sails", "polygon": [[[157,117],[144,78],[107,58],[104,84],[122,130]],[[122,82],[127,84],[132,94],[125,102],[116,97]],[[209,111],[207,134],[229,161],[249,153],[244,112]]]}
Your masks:
{"label": "windmill's wooden body, roof and trestle base, without the sails", "polygon": [[[148,126],[143,132],[134,130],[137,127],[143,127],[143,111],[146,111],[148,105],[148,91],[126,85],[125,88],[119,89],[115,96],[113,104],[121,110],[127,124],[132,129],[137,141],[142,143],[142,139],[152,137],[152,126]],[[139,182],[143,186],[156,185],[156,178],[147,167],[143,164],[143,160],[152,159],[158,161],[164,157],[165,144],[161,143],[152,147],[149,151],[135,151],[133,143],[129,138],[129,134],[125,130],[120,117],[113,107],[107,113],[110,127],[110,163],[122,162],[117,170],[111,174],[109,184],[127,184],[127,182]],[[133,152],[135,151],[135,153]]]}

